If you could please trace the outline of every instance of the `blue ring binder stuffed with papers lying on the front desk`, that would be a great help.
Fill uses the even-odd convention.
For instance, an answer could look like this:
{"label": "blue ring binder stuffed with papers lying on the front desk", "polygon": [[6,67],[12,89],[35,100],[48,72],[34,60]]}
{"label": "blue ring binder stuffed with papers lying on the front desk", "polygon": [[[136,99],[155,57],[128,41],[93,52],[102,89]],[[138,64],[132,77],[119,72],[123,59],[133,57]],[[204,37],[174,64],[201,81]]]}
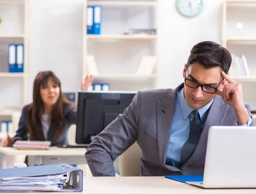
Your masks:
{"label": "blue ring binder stuffed with papers lying on the front desk", "polygon": [[0,169],[0,192],[83,190],[83,171],[67,163]]}

